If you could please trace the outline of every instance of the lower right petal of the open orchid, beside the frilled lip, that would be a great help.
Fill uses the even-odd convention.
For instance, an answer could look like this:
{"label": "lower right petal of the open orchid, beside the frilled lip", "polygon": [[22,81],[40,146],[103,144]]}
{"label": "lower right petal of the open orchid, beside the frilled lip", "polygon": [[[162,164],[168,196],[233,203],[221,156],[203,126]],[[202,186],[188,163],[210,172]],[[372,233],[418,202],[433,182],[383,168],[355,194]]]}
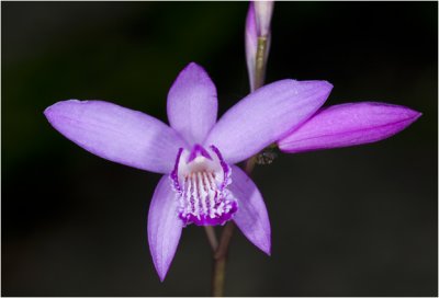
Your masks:
{"label": "lower right petal of the open orchid, beside the frilled lip", "polygon": [[258,187],[243,170],[232,165],[232,184],[228,188],[238,200],[234,221],[251,243],[270,255],[270,220]]}

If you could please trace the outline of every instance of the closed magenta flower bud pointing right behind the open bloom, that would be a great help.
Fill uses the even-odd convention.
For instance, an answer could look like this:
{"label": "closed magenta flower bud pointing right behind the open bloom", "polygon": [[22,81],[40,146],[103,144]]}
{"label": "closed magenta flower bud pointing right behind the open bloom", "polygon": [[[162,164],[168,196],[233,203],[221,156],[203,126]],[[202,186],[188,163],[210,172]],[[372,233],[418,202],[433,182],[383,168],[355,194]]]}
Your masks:
{"label": "closed magenta flower bud pointing right behind the open bloom", "polygon": [[295,153],[368,144],[403,130],[421,114],[405,106],[363,102],[329,106],[279,141]]}

